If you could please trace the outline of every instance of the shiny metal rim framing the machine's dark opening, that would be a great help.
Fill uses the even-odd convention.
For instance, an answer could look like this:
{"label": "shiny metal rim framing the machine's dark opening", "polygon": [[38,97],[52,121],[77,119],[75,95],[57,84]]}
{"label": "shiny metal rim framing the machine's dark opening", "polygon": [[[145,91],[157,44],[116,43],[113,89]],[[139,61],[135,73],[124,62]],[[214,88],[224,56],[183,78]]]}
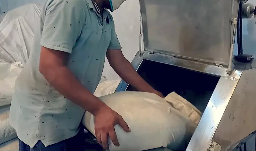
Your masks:
{"label": "shiny metal rim framing the machine's dark opening", "polygon": [[[148,52],[143,52],[141,56],[139,56],[139,53],[137,53],[134,57],[132,65],[136,71],[139,69],[144,59],[220,76],[219,83],[217,84],[216,89],[214,90],[204,114],[196,128],[196,131],[194,132],[194,135],[192,136],[186,149],[186,151],[206,151],[209,148],[209,144],[214,136],[219,122],[221,121],[221,117],[225,112],[242,72],[233,70],[233,72],[229,75],[227,74],[227,68],[158,53],[151,54]],[[127,87],[128,84],[122,80],[118,85],[116,92],[125,91]],[[218,113],[217,116],[216,113]]]}

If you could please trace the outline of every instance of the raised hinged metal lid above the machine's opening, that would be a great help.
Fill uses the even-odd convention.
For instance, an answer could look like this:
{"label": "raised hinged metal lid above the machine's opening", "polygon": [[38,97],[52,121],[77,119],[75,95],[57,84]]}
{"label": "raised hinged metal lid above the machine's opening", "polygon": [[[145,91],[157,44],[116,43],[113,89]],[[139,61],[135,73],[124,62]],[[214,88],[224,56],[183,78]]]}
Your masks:
{"label": "raised hinged metal lid above the machine's opening", "polygon": [[237,0],[139,0],[146,51],[227,65]]}

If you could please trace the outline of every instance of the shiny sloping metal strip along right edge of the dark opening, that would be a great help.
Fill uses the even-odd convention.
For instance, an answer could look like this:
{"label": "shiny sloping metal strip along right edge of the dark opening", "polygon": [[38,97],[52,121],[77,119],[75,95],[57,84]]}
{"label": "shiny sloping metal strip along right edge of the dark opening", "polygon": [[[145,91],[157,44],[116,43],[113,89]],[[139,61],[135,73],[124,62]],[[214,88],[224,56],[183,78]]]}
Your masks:
{"label": "shiny sloping metal strip along right edge of the dark opening", "polygon": [[207,151],[237,82],[237,78],[220,78],[186,151]]}

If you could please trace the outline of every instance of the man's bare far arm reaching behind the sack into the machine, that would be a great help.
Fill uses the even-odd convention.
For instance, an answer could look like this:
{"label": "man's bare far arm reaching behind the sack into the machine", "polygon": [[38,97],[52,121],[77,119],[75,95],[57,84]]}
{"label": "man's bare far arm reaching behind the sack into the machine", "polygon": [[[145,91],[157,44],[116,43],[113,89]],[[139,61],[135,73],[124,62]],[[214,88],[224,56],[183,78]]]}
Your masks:
{"label": "man's bare far arm reaching behind the sack into the machine", "polygon": [[128,84],[135,87],[138,91],[155,93],[161,97],[162,93],[156,91],[149,85],[134,69],[131,63],[125,59],[121,49],[108,50],[107,59],[110,66],[117,72],[117,74]]}

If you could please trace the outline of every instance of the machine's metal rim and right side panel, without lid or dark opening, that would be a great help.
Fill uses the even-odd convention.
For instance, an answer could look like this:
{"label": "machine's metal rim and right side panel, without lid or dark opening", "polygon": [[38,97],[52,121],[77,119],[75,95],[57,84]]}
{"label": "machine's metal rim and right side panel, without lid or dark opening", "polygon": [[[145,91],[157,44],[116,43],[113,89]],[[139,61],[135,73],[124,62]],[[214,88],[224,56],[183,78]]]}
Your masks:
{"label": "machine's metal rim and right side panel, without lid or dark opening", "polygon": [[[220,76],[186,151],[206,151],[211,141],[219,143],[222,146],[221,151],[231,150],[243,143],[245,140],[243,138],[252,136],[250,134],[256,130],[256,121],[252,122],[254,114],[256,114],[254,108],[256,102],[250,99],[256,97],[253,92],[253,86],[256,85],[256,79],[254,80],[256,68],[252,68],[252,66],[256,67],[256,63],[252,63],[250,66],[252,69],[249,70],[243,68],[243,65],[246,67],[245,63],[241,63],[243,70],[233,69],[228,74],[228,68],[144,51],[141,52],[141,55],[138,52],[132,61],[132,66],[136,71],[144,59]],[[116,92],[125,91],[127,87],[128,84],[122,80]],[[244,95],[245,93],[247,95]],[[245,100],[250,101],[244,104]],[[230,119],[230,116],[233,116],[233,119]],[[235,126],[232,127],[232,125]],[[246,128],[242,130],[243,127]],[[240,131],[237,132],[237,129]],[[228,135],[228,133],[233,135]]]}

